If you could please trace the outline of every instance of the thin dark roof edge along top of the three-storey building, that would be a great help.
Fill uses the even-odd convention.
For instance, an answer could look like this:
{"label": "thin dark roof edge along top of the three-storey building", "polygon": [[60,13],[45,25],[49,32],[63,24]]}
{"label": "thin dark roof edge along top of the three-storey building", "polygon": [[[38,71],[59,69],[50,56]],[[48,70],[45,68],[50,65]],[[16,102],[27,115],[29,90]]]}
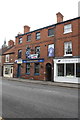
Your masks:
{"label": "thin dark roof edge along top of the three-storey building", "polygon": [[19,36],[27,35],[29,33],[33,33],[33,32],[36,32],[36,31],[39,31],[39,30],[42,30],[42,29],[46,29],[46,28],[49,28],[49,27],[55,27],[56,25],[63,24],[63,23],[66,23],[66,22],[69,22],[69,21],[73,21],[73,20],[76,20],[76,19],[80,19],[80,17],[76,17],[76,18],[69,19],[69,20],[66,20],[66,21],[62,21],[62,22],[59,22],[59,23],[56,23],[56,24],[52,24],[52,25],[49,25],[49,26],[46,26],[46,27],[43,27],[43,28],[39,28],[39,29],[30,31],[30,32],[27,32],[27,33],[24,33],[24,34],[18,34],[16,36],[16,38],[19,37]]}

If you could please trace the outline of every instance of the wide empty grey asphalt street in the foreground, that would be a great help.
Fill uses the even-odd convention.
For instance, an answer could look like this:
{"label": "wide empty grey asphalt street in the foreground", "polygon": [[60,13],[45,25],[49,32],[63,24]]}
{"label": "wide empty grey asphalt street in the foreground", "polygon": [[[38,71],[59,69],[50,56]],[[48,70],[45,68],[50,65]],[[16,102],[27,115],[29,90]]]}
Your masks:
{"label": "wide empty grey asphalt street in the foreground", "polygon": [[78,89],[3,80],[2,117],[78,118]]}

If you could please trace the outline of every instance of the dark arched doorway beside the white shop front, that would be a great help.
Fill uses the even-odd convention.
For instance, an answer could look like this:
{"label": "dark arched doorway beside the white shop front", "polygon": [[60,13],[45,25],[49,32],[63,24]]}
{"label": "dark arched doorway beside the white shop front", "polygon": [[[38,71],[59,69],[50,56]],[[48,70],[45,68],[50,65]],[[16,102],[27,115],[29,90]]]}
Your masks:
{"label": "dark arched doorway beside the white shop front", "polygon": [[52,65],[50,63],[46,64],[46,80],[52,81]]}

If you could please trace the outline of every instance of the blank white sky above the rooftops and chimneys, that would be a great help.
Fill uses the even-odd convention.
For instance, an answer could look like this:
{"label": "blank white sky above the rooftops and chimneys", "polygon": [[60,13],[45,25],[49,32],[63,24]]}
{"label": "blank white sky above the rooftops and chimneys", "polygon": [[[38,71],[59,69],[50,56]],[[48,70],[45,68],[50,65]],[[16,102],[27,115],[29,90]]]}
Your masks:
{"label": "blank white sky above the rooftops and chimneys", "polygon": [[30,31],[57,23],[56,13],[64,21],[78,17],[80,0],[0,0],[0,47],[4,40],[14,40],[24,25]]}

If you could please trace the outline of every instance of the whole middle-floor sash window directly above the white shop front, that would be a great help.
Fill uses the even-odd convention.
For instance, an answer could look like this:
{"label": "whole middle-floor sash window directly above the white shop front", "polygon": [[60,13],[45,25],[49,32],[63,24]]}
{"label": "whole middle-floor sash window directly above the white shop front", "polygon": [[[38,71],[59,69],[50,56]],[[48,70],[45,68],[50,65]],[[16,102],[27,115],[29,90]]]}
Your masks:
{"label": "whole middle-floor sash window directly above the white shop front", "polygon": [[65,42],[64,43],[64,55],[65,56],[72,55],[72,42]]}

